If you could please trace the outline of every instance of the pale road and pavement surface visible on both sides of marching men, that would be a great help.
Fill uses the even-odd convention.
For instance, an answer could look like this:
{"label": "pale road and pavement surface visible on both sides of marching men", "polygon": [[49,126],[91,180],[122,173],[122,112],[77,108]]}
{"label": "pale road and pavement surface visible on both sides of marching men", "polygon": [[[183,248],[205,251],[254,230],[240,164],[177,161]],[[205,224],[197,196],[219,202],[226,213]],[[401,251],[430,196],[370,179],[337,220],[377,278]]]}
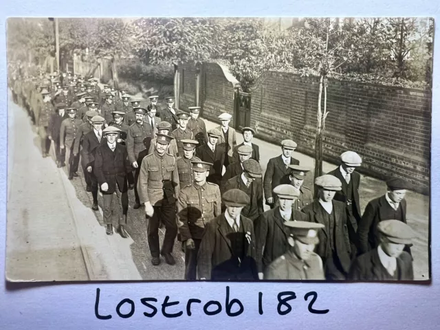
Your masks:
{"label": "pale road and pavement surface visible on both sides of marching men", "polygon": [[[137,96],[135,96],[137,98]],[[181,280],[184,254],[176,242],[176,265],[151,265],[146,239],[144,210],[133,210],[134,192],[129,190],[129,239],[107,236],[102,210],[91,210],[91,193],[86,192],[82,170],[69,181],[65,168],[41,157],[39,140],[27,113],[9,98],[8,108],[8,224],[6,276],[9,281],[138,281]],[[206,122],[207,129],[217,124]],[[237,133],[237,142],[242,136]],[[255,139],[259,144],[263,170],[281,148]],[[25,152],[19,152],[25,151]],[[53,157],[52,147],[52,157]],[[314,159],[295,153],[300,164],[314,167]],[[327,162],[328,172],[336,167]],[[305,185],[313,187],[309,173]],[[362,175],[361,208],[386,191],[384,182]],[[416,279],[429,278],[429,197],[408,192],[408,224],[417,232],[412,247]],[[102,205],[102,197],[98,196]],[[162,242],[163,230],[159,230]]]}

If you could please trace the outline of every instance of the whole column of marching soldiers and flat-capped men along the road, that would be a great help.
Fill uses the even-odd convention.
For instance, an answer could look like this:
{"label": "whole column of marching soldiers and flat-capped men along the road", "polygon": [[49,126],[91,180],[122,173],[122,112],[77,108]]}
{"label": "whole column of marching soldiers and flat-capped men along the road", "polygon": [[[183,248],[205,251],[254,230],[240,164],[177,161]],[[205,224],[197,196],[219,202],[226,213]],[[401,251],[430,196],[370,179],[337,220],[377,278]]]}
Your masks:
{"label": "whole column of marching soldiers and flat-capped men along the road", "polygon": [[[303,185],[311,170],[294,158],[296,142],[283,140],[263,175],[252,127],[236,144],[232,115],[206,131],[200,107],[188,113],[131,100],[126,91],[98,86],[72,73],[10,75],[14,102],[30,112],[43,157],[53,142],[58,167],[69,179],[81,164],[87,192],[98,210],[102,193],[107,234],[113,225],[126,238],[128,190],[133,208],[146,214],[151,263],[174,265],[177,241],[187,280],[410,280],[406,224],[409,185],[386,181],[384,195],[360,210],[362,158],[340,155],[340,165],[314,181],[316,198]],[[264,210],[264,204],[270,210]],[[162,247],[159,227],[164,226]]]}

